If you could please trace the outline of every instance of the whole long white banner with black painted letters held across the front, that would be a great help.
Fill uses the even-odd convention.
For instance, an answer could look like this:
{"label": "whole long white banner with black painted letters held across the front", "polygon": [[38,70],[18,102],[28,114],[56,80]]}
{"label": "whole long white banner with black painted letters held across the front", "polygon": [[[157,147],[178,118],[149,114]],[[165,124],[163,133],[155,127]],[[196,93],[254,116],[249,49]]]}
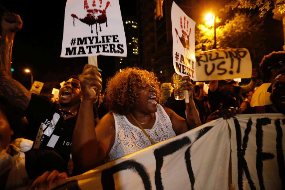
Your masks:
{"label": "whole long white banner with black painted letters held across the front", "polygon": [[249,189],[252,181],[251,189],[284,189],[284,121],[282,114],[219,118],[58,187],[220,190],[228,189],[232,176],[234,189]]}

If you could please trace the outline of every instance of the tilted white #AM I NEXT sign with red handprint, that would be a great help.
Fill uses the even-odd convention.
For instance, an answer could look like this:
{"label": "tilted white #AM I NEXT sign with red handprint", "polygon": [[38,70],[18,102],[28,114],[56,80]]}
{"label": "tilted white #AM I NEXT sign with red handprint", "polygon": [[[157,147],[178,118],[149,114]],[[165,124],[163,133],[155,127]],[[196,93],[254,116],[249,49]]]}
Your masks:
{"label": "tilted white #AM I NEXT sign with red handprint", "polygon": [[171,7],[172,58],[175,72],[196,80],[195,22],[173,1]]}

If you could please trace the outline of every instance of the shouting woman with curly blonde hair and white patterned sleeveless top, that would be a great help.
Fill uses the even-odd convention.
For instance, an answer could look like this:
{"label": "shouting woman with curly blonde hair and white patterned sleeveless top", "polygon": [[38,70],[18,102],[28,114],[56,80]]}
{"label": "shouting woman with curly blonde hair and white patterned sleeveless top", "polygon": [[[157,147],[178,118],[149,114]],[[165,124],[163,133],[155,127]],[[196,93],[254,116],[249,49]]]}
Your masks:
{"label": "shouting woman with curly blonde hair and white patterned sleeveless top", "polygon": [[186,121],[157,104],[159,82],[153,72],[126,68],[107,81],[105,98],[110,112],[94,130],[91,105],[96,93],[91,87],[98,80],[94,71],[86,69],[79,77],[83,99],[72,139],[75,170],[90,170],[103,159],[118,159],[201,125],[188,76],[182,78],[186,82],[181,85],[189,91]]}

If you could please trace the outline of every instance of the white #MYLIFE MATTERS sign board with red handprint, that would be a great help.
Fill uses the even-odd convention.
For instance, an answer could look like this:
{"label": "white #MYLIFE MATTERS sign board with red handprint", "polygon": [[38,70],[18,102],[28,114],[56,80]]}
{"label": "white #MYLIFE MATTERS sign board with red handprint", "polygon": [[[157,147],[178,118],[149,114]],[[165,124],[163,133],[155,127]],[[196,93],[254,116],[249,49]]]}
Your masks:
{"label": "white #MYLIFE MATTERS sign board with red handprint", "polygon": [[67,0],[61,57],[127,56],[118,0]]}

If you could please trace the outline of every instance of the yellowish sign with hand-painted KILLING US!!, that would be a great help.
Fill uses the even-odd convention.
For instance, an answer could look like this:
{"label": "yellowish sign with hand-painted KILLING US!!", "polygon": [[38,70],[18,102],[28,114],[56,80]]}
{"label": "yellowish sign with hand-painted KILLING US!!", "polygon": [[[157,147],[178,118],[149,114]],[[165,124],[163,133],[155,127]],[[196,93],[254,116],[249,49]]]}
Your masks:
{"label": "yellowish sign with hand-painted KILLING US!!", "polygon": [[195,56],[198,81],[251,77],[250,54],[245,48],[214,49]]}

